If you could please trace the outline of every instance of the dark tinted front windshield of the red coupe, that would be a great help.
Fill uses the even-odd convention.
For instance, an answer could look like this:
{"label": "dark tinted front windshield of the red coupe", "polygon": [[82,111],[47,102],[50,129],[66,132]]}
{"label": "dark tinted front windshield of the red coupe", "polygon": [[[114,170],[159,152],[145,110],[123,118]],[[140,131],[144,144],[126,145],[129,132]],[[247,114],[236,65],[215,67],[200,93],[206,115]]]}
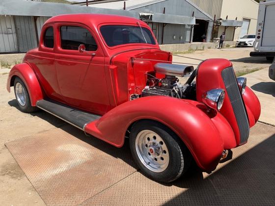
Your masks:
{"label": "dark tinted front windshield of the red coupe", "polygon": [[100,27],[100,32],[109,47],[137,43],[156,44],[150,30],[144,27],[140,28],[138,25],[106,25]]}

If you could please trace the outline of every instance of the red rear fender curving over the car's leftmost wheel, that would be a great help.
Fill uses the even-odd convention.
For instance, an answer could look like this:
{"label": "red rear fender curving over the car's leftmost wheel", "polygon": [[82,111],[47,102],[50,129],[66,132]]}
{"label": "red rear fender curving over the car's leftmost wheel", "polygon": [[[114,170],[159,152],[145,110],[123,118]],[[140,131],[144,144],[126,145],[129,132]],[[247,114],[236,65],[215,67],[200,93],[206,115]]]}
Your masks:
{"label": "red rear fender curving over the car's leftmost wheel", "polygon": [[7,79],[7,91],[10,92],[10,87],[13,86],[14,77],[19,77],[24,81],[32,106],[36,106],[38,100],[43,99],[43,91],[40,87],[38,79],[27,63],[15,65],[9,72]]}

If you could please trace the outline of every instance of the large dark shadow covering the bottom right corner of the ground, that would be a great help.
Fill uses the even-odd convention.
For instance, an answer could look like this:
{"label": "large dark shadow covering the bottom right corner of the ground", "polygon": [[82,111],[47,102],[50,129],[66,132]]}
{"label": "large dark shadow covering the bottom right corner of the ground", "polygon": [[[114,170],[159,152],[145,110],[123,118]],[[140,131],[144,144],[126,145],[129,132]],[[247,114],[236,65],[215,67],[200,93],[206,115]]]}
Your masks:
{"label": "large dark shadow covering the bottom right corner of the ground", "polygon": [[274,151],[275,134],[204,180],[199,173],[176,180],[189,189],[165,205],[274,205]]}

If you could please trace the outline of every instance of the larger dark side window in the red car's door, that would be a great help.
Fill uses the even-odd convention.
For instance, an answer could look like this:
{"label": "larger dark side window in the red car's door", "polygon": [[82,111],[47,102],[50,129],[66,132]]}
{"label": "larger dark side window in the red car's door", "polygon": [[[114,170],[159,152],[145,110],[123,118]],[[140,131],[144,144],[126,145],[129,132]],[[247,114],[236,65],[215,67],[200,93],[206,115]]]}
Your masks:
{"label": "larger dark side window in the red car's door", "polygon": [[97,45],[91,33],[80,26],[60,27],[61,48],[63,50],[78,50],[84,44],[86,51],[96,51]]}

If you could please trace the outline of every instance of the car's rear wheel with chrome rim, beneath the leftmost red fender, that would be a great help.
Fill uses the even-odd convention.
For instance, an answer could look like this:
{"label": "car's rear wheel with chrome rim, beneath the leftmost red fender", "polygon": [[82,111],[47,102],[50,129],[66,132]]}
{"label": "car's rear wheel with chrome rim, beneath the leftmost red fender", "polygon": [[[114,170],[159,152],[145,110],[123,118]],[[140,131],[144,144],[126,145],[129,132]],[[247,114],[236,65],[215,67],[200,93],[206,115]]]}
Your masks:
{"label": "car's rear wheel with chrome rim, beneath the leftmost red fender", "polygon": [[27,87],[21,78],[14,79],[13,88],[20,111],[30,113],[37,110],[37,107],[31,106]]}

